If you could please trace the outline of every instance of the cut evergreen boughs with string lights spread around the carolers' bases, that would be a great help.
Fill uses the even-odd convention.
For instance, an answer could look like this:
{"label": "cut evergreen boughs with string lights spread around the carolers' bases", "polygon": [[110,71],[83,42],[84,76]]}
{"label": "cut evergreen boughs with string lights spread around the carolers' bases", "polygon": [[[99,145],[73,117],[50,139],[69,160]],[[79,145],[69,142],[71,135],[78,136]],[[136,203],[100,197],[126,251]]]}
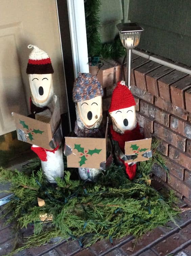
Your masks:
{"label": "cut evergreen boughs with string lights spread around the carolers' bases", "polygon": [[[39,159],[25,165],[22,172],[1,168],[0,182],[10,182],[8,192],[13,193],[3,209],[5,225],[15,224],[18,234],[21,228],[34,225],[34,234],[14,253],[43,245],[54,237],[72,237],[81,247],[103,238],[112,243],[112,238],[129,234],[140,237],[174,221],[178,208],[173,193],[162,195],[149,185],[153,164],[165,166],[157,146],[155,141],[150,160],[137,164],[133,181],[127,178],[122,166],[114,164],[100,175],[97,183],[80,181],[75,177],[76,169],[69,169],[64,179],[57,178],[56,186],[46,182]],[[45,200],[44,206],[38,206],[37,197]],[[39,216],[44,213],[52,215],[53,221],[42,222]]]}

